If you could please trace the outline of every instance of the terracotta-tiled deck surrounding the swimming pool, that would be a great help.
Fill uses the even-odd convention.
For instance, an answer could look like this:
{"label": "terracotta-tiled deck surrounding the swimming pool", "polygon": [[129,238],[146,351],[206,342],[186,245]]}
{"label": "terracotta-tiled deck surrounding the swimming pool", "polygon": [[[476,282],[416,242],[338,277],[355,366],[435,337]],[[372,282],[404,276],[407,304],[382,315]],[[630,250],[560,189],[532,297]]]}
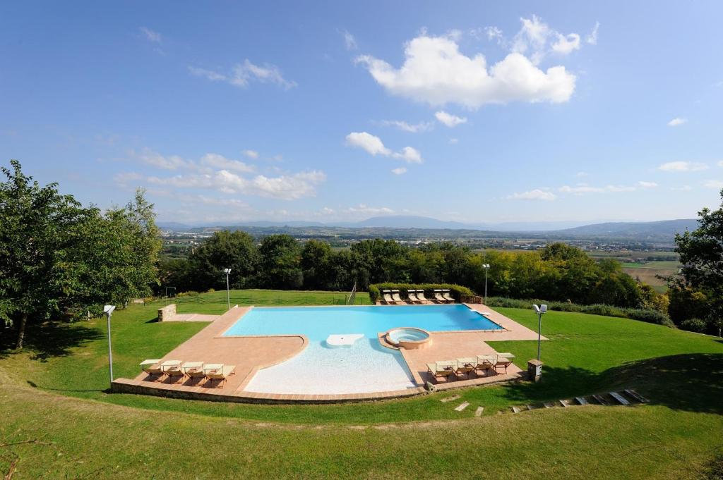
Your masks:
{"label": "terracotta-tiled deck surrounding the swimming pool", "polygon": [[[335,403],[344,401],[369,401],[385,398],[415,396],[427,393],[424,383],[432,380],[427,375],[427,363],[460,357],[474,357],[480,354],[494,354],[487,341],[536,340],[537,333],[519,323],[495,312],[485,305],[466,304],[468,307],[485,313],[504,330],[498,331],[454,331],[432,332],[432,344],[424,349],[401,350],[409,370],[412,372],[416,387],[406,390],[393,390],[372,393],[302,395],[281,393],[255,393],[244,391],[247,383],[257,370],[284,362],[299,354],[309,343],[303,335],[288,336],[222,336],[236,320],[252,307],[234,307],[213,320],[206,328],[177,346],[161,358],[184,362],[224,363],[236,365],[234,375],[228,378],[223,388],[205,386],[197,380],[185,379],[181,383],[170,380],[156,380],[141,372],[134,379],[117,378],[113,390],[124,393],[142,393],[174,398],[194,398],[210,401],[241,403]],[[544,337],[542,337],[544,339]],[[138,359],[138,362],[143,359]],[[523,359],[517,359],[523,361]],[[521,380],[524,372],[510,365],[507,372],[497,375],[472,374],[469,379],[440,380],[437,390],[461,388],[472,385],[509,382]]]}

